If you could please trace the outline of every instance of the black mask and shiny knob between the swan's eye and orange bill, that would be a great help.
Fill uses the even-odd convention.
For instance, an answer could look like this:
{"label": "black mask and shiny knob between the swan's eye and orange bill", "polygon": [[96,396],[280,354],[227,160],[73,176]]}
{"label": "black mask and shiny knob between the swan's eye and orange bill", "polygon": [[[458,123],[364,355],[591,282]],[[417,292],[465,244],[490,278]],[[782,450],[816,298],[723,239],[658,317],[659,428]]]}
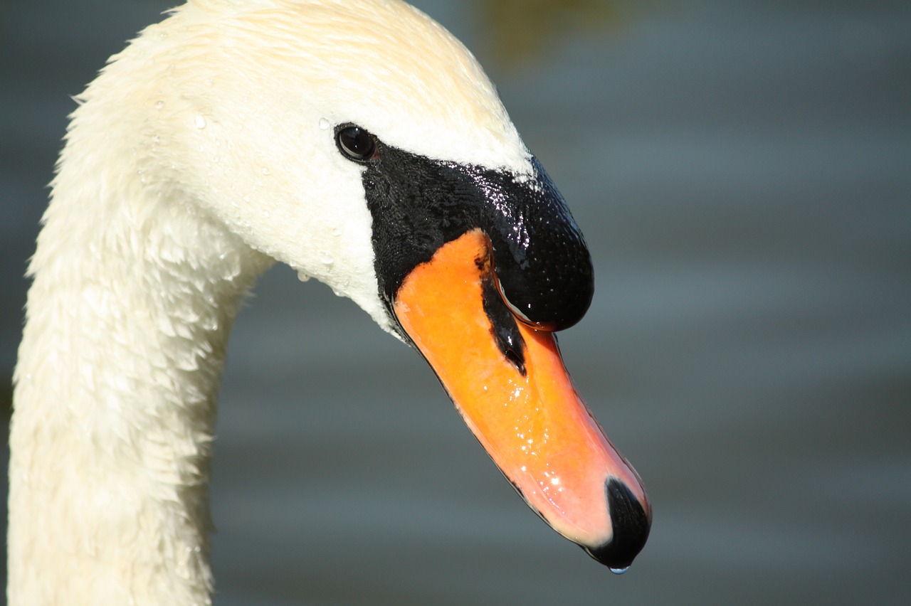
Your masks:
{"label": "black mask and shiny knob between the swan's eye and orange bill", "polygon": [[[336,137],[351,128],[360,127],[337,126]],[[433,160],[375,136],[371,140],[370,157],[353,159],[364,166],[374,265],[392,318],[395,292],[411,270],[476,227],[490,238],[497,289],[517,318],[548,330],[568,328],[582,318],[594,292],[589,249],[536,158],[531,176],[516,176]]]}

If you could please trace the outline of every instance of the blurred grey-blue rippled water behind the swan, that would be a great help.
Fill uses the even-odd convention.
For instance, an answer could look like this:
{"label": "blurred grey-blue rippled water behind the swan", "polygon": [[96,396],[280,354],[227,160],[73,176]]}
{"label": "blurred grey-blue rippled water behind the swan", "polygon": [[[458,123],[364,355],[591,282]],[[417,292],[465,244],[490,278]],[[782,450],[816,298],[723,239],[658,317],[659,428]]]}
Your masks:
{"label": "blurred grey-blue rippled water behind the swan", "polygon": [[[68,96],[168,5],[0,2],[7,412]],[[476,52],[588,237],[595,301],[560,342],[650,490],[650,542],[620,577],[590,561],[422,359],[275,268],[221,389],[216,603],[907,603],[911,5],[415,5]]]}

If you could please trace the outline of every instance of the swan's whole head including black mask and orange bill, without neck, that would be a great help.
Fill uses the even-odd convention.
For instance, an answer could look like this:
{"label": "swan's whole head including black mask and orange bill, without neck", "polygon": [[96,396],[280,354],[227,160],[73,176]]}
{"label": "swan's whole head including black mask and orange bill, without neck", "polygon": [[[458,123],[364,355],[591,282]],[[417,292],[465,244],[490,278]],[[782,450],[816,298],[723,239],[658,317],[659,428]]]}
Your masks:
{"label": "swan's whole head including black mask and orange bill, without neck", "polygon": [[463,45],[397,1],[198,0],[115,59],[85,97],[142,187],[414,345],[532,509],[629,566],[648,498],[550,332],[589,307],[589,252]]}

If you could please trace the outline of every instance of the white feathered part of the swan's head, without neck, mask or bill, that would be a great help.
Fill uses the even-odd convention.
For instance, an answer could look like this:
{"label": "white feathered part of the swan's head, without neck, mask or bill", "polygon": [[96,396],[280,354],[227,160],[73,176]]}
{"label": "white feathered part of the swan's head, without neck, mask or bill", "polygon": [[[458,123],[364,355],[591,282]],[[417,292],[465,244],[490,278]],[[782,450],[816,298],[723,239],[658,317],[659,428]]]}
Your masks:
{"label": "white feathered part of the swan's head, without neck, mask or bill", "polygon": [[181,187],[251,247],[391,329],[377,296],[368,167],[340,153],[339,126],[514,176],[532,174],[531,157],[474,57],[411,6],[269,4],[227,14],[189,5],[134,42],[160,68],[140,85],[148,148],[156,162],[189,167],[175,175]]}

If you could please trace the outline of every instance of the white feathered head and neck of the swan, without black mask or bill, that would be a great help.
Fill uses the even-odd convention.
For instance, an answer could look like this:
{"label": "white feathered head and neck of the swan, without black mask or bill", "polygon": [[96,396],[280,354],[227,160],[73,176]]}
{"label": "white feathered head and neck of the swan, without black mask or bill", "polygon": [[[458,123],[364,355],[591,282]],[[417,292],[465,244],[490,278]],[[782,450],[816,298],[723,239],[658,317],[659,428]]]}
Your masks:
{"label": "white feathered head and neck of the swan, without black mask or bill", "polygon": [[198,0],[80,97],[15,372],[11,604],[210,603],[215,394],[273,259],[384,328],[360,168],[332,125],[529,172],[451,35],[385,0]]}

